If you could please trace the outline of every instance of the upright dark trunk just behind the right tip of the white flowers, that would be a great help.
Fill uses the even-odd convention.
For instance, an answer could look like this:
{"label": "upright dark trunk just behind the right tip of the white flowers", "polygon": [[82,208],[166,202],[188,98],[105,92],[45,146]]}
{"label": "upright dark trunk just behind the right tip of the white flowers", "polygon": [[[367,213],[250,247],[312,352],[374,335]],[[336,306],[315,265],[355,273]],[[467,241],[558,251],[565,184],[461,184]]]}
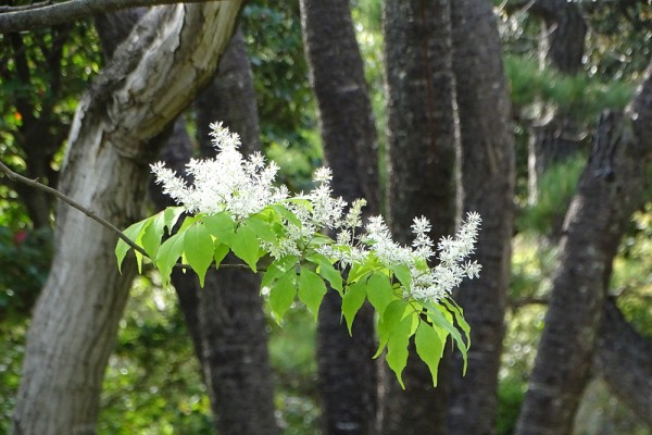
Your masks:
{"label": "upright dark trunk just behind the right tip of the white flowers", "polygon": [[474,256],[479,279],[464,282],[457,302],[471,324],[468,371],[455,355],[449,434],[493,434],[498,370],[510,279],[514,197],[514,137],[510,99],[491,2],[451,2],[464,211],[482,226]]}

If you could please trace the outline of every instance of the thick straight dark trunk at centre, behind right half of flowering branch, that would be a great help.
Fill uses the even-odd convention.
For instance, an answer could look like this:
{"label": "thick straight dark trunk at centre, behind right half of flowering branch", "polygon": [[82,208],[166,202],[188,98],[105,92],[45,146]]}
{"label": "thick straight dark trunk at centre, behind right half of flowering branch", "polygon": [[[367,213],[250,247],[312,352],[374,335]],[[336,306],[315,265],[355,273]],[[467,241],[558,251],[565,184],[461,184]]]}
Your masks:
{"label": "thick straight dark trunk at centre, behind right half of flowering branch", "polygon": [[[457,219],[457,147],[449,0],[385,2],[387,76],[388,221],[397,240],[412,241],[414,216],[432,224],[431,236],[454,233]],[[384,434],[446,433],[448,364],[438,387],[410,345],[405,390],[384,376]],[[387,369],[386,369],[387,370]]]}

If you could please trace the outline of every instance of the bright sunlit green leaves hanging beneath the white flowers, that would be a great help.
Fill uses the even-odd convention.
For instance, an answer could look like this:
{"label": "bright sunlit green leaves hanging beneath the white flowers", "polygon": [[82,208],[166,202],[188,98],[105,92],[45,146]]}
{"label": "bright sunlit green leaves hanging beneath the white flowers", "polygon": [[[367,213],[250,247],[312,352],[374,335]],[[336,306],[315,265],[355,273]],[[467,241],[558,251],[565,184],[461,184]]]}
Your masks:
{"label": "bright sunlit green leaves hanging beneath the white flowers", "polygon": [[[178,265],[179,259],[180,264],[198,273],[203,285],[203,276],[213,260],[216,259],[216,266],[220,266],[220,261],[229,249],[253,272],[258,271],[259,261],[269,250],[285,249],[284,240],[291,237],[292,233],[301,232],[303,225],[294,214],[300,209],[290,209],[288,204],[311,210],[313,207],[305,199],[291,198],[240,219],[230,217],[227,212],[214,215],[199,213],[186,216],[175,234],[159,243],[155,239],[167,237],[166,228],[170,231],[181,214],[179,208],[171,208],[133,224],[125,234],[143,248],[143,240],[147,241],[147,253],[159,269],[164,285],[170,283],[172,269]],[[337,245],[318,234],[303,235],[296,244],[301,249],[300,254],[276,254],[268,262],[262,281],[262,293],[268,294],[272,314],[279,324],[297,297],[316,320],[326,294],[325,282],[328,282],[343,296],[342,313],[349,331],[365,300],[375,308],[379,319],[380,341],[375,358],[387,349],[387,363],[402,386],[401,372],[408,363],[408,344],[417,331],[417,355],[430,369],[434,384],[441,350],[449,335],[462,353],[466,370],[471,331],[462,310],[453,301],[426,303],[405,297],[412,274],[429,271],[425,260],[413,272],[403,264],[386,266],[376,254],[369,253],[351,268],[338,270],[334,266],[337,258],[327,258],[318,249],[323,245],[333,245],[334,251],[340,251],[352,249],[350,246]],[[118,266],[129,249],[123,240],[117,243],[115,253]],[[142,254],[136,252],[136,260],[140,266]],[[427,343],[429,339],[437,341]]]}

